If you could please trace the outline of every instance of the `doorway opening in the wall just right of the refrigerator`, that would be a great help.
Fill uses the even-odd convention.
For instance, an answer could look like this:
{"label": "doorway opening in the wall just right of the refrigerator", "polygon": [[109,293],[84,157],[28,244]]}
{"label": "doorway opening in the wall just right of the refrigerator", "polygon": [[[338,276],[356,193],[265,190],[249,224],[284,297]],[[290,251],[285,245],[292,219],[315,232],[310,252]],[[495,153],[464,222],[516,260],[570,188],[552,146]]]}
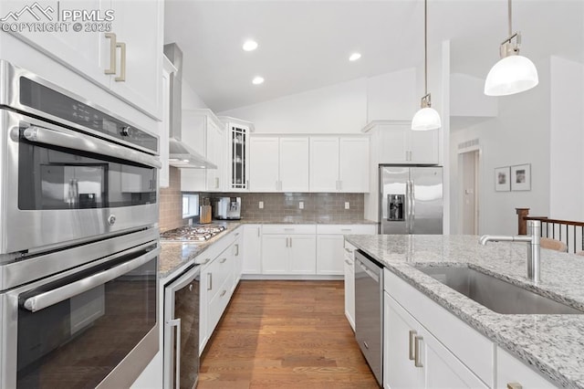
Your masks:
{"label": "doorway opening in the wall just right of the refrigerator", "polygon": [[459,166],[459,231],[464,235],[478,235],[478,172],[480,150],[465,150],[458,154]]}

